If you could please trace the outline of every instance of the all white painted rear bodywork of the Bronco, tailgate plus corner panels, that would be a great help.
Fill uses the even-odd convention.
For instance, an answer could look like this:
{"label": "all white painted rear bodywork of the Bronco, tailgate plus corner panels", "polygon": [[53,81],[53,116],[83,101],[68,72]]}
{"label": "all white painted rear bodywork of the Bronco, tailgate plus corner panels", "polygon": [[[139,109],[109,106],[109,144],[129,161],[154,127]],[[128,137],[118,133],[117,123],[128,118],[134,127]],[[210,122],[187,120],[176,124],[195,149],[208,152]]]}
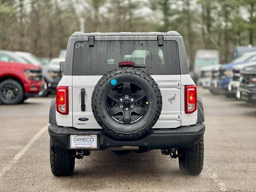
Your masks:
{"label": "all white painted rear bodywork of the Bronco, tailgate plus corner panels", "polygon": [[[73,126],[78,129],[101,129],[96,122],[91,107],[91,97],[94,87],[102,76],[63,76],[58,86],[68,86],[69,113],[61,115],[56,112],[56,122],[59,126]],[[194,85],[190,75],[152,75],[162,94],[162,112],[153,128],[176,128],[181,125],[196,124],[197,111],[185,114],[185,85]],[[85,89],[86,110],[81,111],[81,89]],[[175,94],[175,95],[174,95]],[[168,100],[175,96],[172,104]],[[89,118],[86,122],[80,117]]]}

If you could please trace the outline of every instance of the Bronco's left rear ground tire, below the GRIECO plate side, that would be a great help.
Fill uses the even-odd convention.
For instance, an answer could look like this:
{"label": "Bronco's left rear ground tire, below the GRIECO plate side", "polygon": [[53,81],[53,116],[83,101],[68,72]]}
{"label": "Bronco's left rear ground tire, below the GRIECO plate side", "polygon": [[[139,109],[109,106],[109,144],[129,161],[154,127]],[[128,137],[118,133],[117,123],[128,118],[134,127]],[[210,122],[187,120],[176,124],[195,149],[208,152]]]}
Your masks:
{"label": "Bronco's left rear ground tire, below the GRIECO plate side", "polygon": [[72,151],[50,140],[50,165],[55,176],[68,176],[74,172],[75,156]]}

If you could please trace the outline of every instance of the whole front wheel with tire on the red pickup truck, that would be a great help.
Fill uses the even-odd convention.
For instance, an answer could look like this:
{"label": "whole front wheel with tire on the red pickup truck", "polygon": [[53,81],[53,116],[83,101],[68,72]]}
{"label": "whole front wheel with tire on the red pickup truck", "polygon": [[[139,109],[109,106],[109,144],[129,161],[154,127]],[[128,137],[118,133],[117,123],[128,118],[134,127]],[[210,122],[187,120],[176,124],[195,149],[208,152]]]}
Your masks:
{"label": "whole front wheel with tire on the red pickup truck", "polygon": [[19,104],[23,101],[24,90],[16,80],[8,79],[0,83],[0,103]]}

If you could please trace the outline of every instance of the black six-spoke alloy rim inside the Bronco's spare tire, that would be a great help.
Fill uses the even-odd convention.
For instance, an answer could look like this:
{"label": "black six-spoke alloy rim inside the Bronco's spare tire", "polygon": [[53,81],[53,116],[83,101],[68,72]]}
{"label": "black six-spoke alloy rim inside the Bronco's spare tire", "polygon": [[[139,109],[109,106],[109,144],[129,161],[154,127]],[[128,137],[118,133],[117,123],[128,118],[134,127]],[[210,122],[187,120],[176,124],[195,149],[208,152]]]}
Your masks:
{"label": "black six-spoke alloy rim inside the Bronco's spare tire", "polygon": [[132,124],[140,120],[148,108],[146,92],[132,82],[123,82],[108,92],[108,114],[119,123]]}

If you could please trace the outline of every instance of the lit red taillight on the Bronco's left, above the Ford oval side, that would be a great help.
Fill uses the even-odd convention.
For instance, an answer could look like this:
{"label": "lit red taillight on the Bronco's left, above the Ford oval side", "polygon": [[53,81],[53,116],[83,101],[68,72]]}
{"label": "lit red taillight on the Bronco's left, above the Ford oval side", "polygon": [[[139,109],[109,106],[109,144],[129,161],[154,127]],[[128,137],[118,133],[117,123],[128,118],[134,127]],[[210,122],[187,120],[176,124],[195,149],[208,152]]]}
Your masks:
{"label": "lit red taillight on the Bronco's left, above the Ford oval side", "polygon": [[68,114],[68,87],[57,87],[56,110],[62,115]]}

